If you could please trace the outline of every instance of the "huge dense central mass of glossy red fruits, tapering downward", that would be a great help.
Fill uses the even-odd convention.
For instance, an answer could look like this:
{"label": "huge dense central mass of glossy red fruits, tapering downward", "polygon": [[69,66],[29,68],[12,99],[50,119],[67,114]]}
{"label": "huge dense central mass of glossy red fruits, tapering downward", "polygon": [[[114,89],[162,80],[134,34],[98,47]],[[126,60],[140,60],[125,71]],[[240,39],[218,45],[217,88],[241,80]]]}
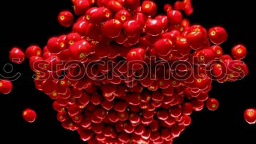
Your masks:
{"label": "huge dense central mass of glossy red fruits, tapering downward", "polygon": [[[72,31],[50,38],[43,51],[29,47],[26,56],[37,89],[56,99],[58,120],[83,141],[172,143],[193,111],[217,110],[217,99],[208,98],[213,79],[248,74],[243,45],[232,49],[233,57],[223,55],[225,29],[206,31],[183,18],[182,11],[193,11],[190,0],[166,4],[165,15],[157,15],[154,1],[72,3],[75,23],[68,11],[58,19]],[[10,52],[16,63],[24,57],[19,48]]]}

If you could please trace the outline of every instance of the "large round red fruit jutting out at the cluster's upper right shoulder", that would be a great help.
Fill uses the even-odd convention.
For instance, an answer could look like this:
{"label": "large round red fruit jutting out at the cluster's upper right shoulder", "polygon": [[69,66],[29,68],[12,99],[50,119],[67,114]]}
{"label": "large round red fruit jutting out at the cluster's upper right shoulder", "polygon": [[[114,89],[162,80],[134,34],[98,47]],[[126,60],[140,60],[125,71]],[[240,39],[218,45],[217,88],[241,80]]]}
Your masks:
{"label": "large round red fruit jutting out at the cluster's upper right shoulder", "polygon": [[209,29],[208,36],[215,45],[220,45],[227,40],[226,30],[219,26]]}

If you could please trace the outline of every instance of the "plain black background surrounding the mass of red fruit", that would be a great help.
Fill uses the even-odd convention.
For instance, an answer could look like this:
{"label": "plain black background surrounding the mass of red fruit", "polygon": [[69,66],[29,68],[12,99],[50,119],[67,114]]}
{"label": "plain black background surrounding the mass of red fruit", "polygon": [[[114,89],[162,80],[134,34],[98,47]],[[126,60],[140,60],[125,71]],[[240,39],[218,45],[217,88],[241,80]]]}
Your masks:
{"label": "plain black background surrounding the mass of red fruit", "polygon": [[[159,12],[167,2],[158,0]],[[213,83],[210,96],[219,99],[217,111],[206,108],[193,113],[192,125],[174,144],[181,143],[256,143],[256,126],[246,124],[243,113],[247,107],[256,107],[255,101],[255,5],[251,0],[194,0],[195,12],[190,16],[192,23],[206,28],[224,26],[229,38],[222,45],[225,53],[236,43],[248,48],[245,58],[249,75],[235,83]],[[70,31],[59,26],[57,16],[61,10],[72,10],[69,0],[5,0],[0,3],[0,69],[10,63],[8,51],[12,46],[23,50],[31,44],[43,47],[53,35]],[[22,77],[13,82],[11,94],[0,94],[0,143],[83,143],[76,132],[69,132],[56,120],[52,100],[34,88],[28,60],[14,64],[13,73]],[[1,73],[4,75],[4,73]],[[23,121],[22,111],[31,107],[37,112],[33,124]]]}

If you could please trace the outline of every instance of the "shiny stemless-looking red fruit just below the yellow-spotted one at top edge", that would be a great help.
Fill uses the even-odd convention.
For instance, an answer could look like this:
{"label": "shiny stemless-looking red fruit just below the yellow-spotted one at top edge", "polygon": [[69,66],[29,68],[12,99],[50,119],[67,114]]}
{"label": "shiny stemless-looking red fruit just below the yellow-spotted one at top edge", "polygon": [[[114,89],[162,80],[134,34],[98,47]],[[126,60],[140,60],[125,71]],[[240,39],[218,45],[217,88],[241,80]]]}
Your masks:
{"label": "shiny stemless-looking red fruit just below the yellow-spotted one at top edge", "polygon": [[157,36],[162,33],[162,22],[157,19],[148,19],[145,23],[145,31],[151,36]]}

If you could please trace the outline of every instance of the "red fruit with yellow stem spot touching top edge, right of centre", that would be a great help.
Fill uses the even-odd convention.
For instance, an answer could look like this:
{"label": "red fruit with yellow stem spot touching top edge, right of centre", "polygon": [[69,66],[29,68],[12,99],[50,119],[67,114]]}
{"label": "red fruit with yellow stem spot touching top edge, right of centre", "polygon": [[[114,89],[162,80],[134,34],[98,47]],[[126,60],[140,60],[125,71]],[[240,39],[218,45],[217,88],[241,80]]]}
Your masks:
{"label": "red fruit with yellow stem spot touching top edge, right of centre", "polygon": [[157,4],[155,4],[154,1],[143,1],[141,11],[144,15],[152,18],[157,14]]}

